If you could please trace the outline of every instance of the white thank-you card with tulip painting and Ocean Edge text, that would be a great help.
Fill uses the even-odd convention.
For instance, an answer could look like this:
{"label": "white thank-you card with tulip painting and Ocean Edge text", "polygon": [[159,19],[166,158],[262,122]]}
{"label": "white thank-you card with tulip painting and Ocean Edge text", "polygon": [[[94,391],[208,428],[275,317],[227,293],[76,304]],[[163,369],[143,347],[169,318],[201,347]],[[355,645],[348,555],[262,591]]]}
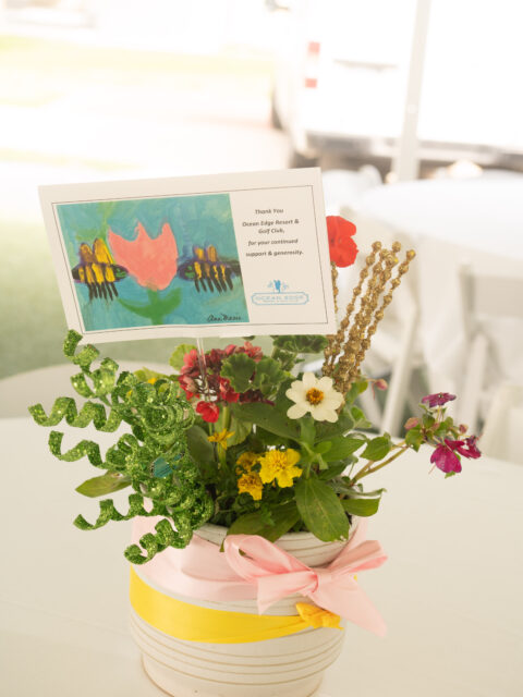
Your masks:
{"label": "white thank-you card with tulip painting and Ocean Edge text", "polygon": [[88,341],[336,331],[317,168],[40,187]]}

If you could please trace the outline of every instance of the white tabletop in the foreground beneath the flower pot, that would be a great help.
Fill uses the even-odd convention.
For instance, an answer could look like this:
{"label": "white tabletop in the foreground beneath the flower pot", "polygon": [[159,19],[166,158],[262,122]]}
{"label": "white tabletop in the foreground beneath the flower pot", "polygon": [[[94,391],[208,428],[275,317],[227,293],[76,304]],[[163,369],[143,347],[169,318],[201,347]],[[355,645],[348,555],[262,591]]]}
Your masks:
{"label": "white tabletop in the foreground beneath the flower pot", "polygon": [[[74,492],[96,472],[52,457],[48,431],[0,419],[0,693],[159,697],[127,633],[130,524],[73,527],[80,512],[96,516],[96,502]],[[523,694],[523,467],[483,458],[445,480],[427,474],[428,456],[409,453],[369,482],[388,488],[369,537],[389,561],[360,582],[388,635],[350,626],[321,697]]]}

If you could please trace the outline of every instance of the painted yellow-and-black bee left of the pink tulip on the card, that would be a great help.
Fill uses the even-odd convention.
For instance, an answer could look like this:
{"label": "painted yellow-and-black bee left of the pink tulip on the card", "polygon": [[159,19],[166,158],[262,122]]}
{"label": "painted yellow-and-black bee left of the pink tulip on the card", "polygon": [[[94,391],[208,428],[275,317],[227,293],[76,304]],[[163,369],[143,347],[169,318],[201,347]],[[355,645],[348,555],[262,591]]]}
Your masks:
{"label": "painted yellow-and-black bee left of the pink tulip on the card", "polygon": [[114,283],[127,276],[123,266],[114,264],[108,246],[97,237],[93,248],[86,242],[78,247],[80,264],[72,270],[73,279],[77,283],[85,283],[89,291],[89,301],[95,297],[112,299],[118,291]]}

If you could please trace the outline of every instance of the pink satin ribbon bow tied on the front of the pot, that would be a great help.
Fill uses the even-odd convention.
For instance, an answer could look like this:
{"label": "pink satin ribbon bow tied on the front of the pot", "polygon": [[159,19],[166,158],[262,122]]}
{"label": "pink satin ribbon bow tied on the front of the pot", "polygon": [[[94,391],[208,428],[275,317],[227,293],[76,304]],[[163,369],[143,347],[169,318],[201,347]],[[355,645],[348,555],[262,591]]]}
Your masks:
{"label": "pink satin ribbon bow tied on the front of the pot", "polygon": [[363,528],[360,523],[348,545],[328,566],[307,566],[258,535],[227,537],[226,559],[239,576],[257,587],[260,613],[277,600],[301,594],[320,608],[384,636],[385,622],[357,585],[354,574],[381,566],[387,555],[376,540],[361,541]]}

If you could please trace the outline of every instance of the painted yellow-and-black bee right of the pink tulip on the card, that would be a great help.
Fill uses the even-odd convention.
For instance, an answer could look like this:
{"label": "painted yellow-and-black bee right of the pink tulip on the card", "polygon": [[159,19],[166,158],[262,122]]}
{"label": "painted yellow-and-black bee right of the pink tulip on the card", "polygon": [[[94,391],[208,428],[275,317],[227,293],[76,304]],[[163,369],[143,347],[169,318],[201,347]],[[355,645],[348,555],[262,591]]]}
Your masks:
{"label": "painted yellow-and-black bee right of the pink tulip on the card", "polygon": [[232,291],[232,277],[241,276],[240,262],[238,259],[220,259],[216,247],[209,244],[203,247],[193,247],[193,257],[186,259],[179,267],[180,278],[186,281],[194,281],[198,293],[200,290],[215,290],[218,293]]}

